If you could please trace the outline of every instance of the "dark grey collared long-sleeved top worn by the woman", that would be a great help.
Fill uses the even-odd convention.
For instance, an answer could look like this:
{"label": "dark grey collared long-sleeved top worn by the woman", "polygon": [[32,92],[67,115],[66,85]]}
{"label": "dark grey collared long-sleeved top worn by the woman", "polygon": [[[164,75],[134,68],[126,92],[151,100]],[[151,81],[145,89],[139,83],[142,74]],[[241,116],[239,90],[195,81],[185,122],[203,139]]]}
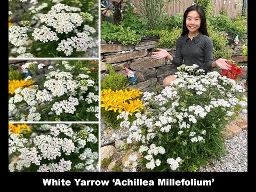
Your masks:
{"label": "dark grey collared long-sleeved top worn by the woman", "polygon": [[182,60],[186,66],[196,64],[199,69],[205,70],[205,73],[212,70],[213,43],[210,37],[200,33],[192,41],[188,34],[177,39],[176,53],[172,63],[175,66],[182,65]]}

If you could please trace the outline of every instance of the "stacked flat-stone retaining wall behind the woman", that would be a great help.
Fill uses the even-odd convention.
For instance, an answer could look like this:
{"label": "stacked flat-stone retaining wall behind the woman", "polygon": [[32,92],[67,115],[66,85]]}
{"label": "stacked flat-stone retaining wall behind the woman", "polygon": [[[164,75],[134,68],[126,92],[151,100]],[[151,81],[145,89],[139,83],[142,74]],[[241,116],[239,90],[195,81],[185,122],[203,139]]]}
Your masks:
{"label": "stacked flat-stone retaining wall behind the woman", "polygon": [[[228,38],[228,34],[226,34]],[[229,48],[233,42],[229,39]],[[242,56],[243,50],[241,46],[244,41],[240,41],[232,59],[235,62],[247,62],[247,56]],[[124,67],[134,71],[137,76],[137,85],[130,85],[127,88],[139,89],[141,91],[153,91],[154,86],[163,84],[166,76],[177,72],[177,67],[173,63],[165,59],[154,59],[150,57],[153,47],[158,45],[158,41],[146,41],[137,45],[107,44],[101,41],[101,81],[107,75],[107,64],[111,64],[117,73],[127,76]],[[231,48],[230,48],[231,49]],[[175,57],[175,50],[165,49]],[[241,78],[246,78],[247,66],[243,68],[245,73]]]}

